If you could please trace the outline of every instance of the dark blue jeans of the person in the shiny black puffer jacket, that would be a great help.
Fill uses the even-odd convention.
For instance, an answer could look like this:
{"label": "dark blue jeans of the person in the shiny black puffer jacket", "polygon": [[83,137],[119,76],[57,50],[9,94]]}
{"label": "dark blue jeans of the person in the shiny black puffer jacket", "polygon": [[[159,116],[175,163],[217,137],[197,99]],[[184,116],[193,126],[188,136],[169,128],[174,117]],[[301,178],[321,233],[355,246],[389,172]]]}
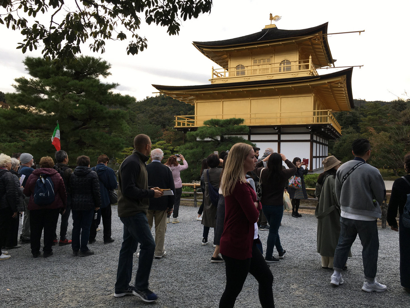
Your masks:
{"label": "dark blue jeans of the person in the shiny black puffer jacket", "polygon": [[[87,244],[90,237],[90,227],[93,220],[94,209],[80,211],[71,209],[73,217],[73,232],[71,234],[71,248],[74,251],[85,252],[88,250]],[[81,241],[80,241],[81,232]]]}

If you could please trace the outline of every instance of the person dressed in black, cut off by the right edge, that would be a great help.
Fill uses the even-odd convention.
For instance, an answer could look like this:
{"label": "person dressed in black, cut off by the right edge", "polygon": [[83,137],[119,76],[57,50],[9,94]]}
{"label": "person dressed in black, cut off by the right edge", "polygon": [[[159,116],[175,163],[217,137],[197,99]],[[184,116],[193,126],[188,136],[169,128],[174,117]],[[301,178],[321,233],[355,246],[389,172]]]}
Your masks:
{"label": "person dressed in black, cut off by the right edge", "polygon": [[[404,156],[404,170],[407,175],[399,177],[393,183],[387,209],[387,223],[392,230],[399,231],[400,284],[410,293],[410,153]],[[400,214],[399,225],[396,221],[397,210]]]}

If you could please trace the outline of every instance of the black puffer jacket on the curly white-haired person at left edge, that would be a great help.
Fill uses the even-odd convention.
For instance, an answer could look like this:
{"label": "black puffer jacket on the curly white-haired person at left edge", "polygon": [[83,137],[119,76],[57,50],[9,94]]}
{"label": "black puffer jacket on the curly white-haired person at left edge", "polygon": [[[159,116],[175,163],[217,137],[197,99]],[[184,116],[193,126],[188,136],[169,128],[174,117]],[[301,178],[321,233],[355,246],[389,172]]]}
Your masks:
{"label": "black puffer jacket on the curly white-haired person at left edge", "polygon": [[6,169],[0,169],[0,209],[11,208],[15,213],[19,205],[18,187],[13,174]]}

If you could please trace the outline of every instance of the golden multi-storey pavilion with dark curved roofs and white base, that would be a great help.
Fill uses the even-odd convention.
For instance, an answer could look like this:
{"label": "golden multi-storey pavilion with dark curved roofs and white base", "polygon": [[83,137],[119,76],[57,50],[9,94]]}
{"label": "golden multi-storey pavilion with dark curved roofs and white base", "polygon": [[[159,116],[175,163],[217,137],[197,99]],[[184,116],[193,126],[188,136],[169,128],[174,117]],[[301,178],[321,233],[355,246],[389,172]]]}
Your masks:
{"label": "golden multi-storey pavilion with dark curved roofs and white base", "polygon": [[302,30],[266,25],[260,32],[193,45],[221,68],[212,67],[210,84],[153,85],[160,93],[195,106],[195,115],[176,116],[175,129],[189,131],[212,118],[245,119],[251,140],[309,159],[309,171],[321,172],[328,140],[341,136],[333,113],[354,107],[353,67],[319,75],[334,67],[328,23]]}

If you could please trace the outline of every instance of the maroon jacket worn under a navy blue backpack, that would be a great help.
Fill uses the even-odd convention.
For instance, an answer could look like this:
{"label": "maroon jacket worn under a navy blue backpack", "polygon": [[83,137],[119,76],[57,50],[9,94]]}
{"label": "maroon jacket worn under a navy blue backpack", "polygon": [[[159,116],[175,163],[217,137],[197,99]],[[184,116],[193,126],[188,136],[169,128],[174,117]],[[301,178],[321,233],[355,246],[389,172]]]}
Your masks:
{"label": "maroon jacket worn under a navy blue backpack", "polygon": [[[54,201],[49,205],[36,205],[34,203],[34,187],[36,186],[37,179],[39,179],[41,174],[46,174],[52,180],[54,185]],[[52,168],[40,168],[32,172],[30,177],[28,177],[27,182],[24,186],[23,193],[30,197],[27,208],[29,210],[34,209],[66,209],[67,206],[67,193],[66,187],[64,186],[64,181],[57,170]]]}

